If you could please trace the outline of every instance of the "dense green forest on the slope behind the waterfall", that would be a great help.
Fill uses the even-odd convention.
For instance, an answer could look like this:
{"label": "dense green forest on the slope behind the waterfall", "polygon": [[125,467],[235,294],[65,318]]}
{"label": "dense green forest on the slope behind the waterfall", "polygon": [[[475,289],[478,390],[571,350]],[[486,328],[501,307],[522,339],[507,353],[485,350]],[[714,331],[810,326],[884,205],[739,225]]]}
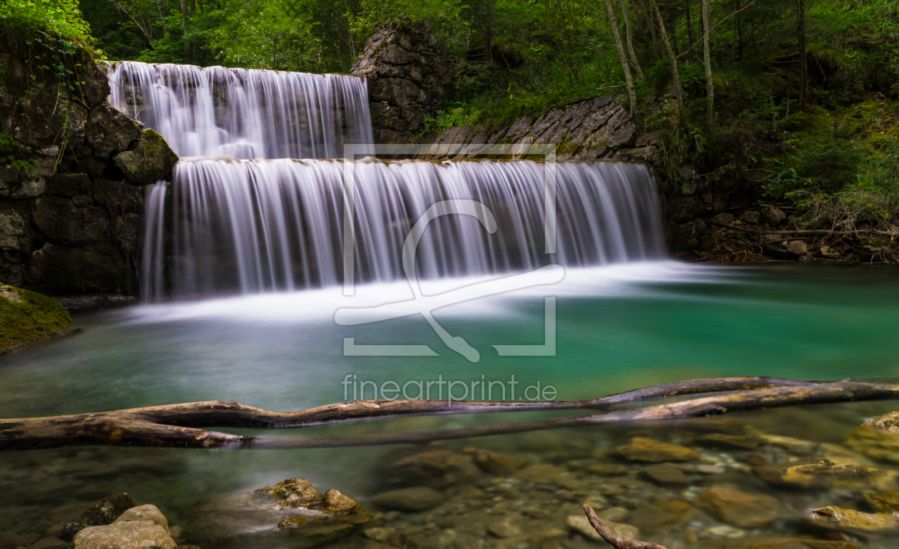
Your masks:
{"label": "dense green forest on the slope behind the waterfall", "polygon": [[427,134],[615,94],[661,132],[672,181],[797,208],[800,228],[899,230],[891,0],[10,0],[0,19],[109,60],[316,73],[426,22],[457,63]]}

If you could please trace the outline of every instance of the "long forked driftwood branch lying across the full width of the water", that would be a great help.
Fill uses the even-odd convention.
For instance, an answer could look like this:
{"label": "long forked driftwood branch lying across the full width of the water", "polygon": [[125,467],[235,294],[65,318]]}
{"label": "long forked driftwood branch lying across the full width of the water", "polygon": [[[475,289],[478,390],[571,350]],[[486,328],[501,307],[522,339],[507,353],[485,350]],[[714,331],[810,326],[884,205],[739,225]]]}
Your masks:
{"label": "long forked driftwood branch lying across the full width of the water", "polygon": [[[525,421],[462,429],[442,429],[358,437],[251,437],[203,427],[290,428],[378,417],[476,412],[608,409],[687,394],[722,393],[645,408],[616,410],[547,421]],[[0,451],[65,446],[155,446],[201,448],[353,447],[425,444],[433,440],[472,438],[539,429],[601,423],[659,421],[720,415],[816,403],[888,400],[899,397],[899,384],[814,382],[776,377],[723,377],[653,385],[585,401],[504,403],[444,401],[357,401],[301,412],[269,412],[240,403],[209,401],[115,412],[47,418],[0,420]]]}

